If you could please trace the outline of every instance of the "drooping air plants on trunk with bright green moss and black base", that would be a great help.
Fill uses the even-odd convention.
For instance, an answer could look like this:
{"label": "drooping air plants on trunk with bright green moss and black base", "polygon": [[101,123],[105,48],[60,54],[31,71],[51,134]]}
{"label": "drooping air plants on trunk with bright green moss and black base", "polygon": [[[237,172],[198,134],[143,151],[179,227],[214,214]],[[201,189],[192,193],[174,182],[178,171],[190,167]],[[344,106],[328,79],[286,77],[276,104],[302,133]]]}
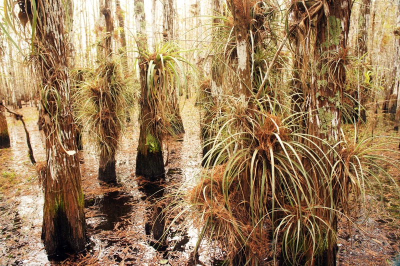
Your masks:
{"label": "drooping air plants on trunk with bright green moss and black base", "polygon": [[[136,157],[136,175],[155,177],[164,174],[162,159],[162,141],[166,135],[173,135],[173,119],[176,117],[171,109],[173,86],[180,91],[186,87],[182,63],[187,61],[180,55],[178,47],[172,42],[160,43],[155,52],[139,49],[141,57],[141,99],[140,99],[140,135]],[[175,104],[178,107],[177,104]],[[148,162],[151,162],[151,165]]]}

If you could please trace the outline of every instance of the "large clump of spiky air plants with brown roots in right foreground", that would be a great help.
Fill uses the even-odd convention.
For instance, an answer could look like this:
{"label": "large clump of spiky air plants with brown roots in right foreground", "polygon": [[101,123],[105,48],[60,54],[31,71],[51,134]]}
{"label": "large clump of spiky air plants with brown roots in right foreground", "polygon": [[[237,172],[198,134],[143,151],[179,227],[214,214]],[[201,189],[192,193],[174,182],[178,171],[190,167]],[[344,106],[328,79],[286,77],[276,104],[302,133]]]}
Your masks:
{"label": "large clump of spiky air plants with brown roots in right foreground", "polygon": [[378,180],[373,167],[388,160],[376,154],[380,147],[371,137],[356,142],[343,135],[333,146],[323,141],[324,156],[334,158],[324,165],[319,139],[296,130],[284,106],[272,111],[278,115],[263,109],[273,102],[255,101],[247,111],[224,106],[209,161],[187,195],[202,237],[231,265],[309,263],[335,242],[337,216],[350,217],[364,205]]}

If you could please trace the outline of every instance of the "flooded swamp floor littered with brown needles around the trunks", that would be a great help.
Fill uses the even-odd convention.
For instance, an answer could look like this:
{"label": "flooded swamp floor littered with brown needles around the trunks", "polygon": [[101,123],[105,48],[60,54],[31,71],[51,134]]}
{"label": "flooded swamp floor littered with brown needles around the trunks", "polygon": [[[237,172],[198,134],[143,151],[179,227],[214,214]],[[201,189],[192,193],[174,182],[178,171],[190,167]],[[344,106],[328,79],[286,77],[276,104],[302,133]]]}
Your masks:
{"label": "flooded swamp floor littered with brown needles around the trunks", "polygon": [[[36,161],[43,162],[43,134],[37,129],[36,108],[25,105],[17,111],[23,114],[27,124]],[[62,258],[61,262],[47,260],[40,240],[43,194],[35,167],[27,157],[22,124],[7,115],[11,148],[0,150],[0,265],[185,265],[195,245],[195,229],[180,227],[180,219],[177,225],[168,228],[166,241],[154,240],[154,236],[160,235],[161,227],[154,214],[161,206],[154,198],[164,196],[164,204],[168,204],[168,195],[172,197],[183,182],[193,183],[200,170],[198,109],[192,100],[186,100],[181,114],[186,132],[165,144],[164,159],[169,154],[166,176],[156,184],[148,184],[134,174],[138,139],[136,120],[132,120],[119,145],[116,185],[97,181],[96,150],[85,139],[79,157],[87,247],[85,252]],[[397,136],[392,127],[393,117],[380,113],[375,134]],[[397,145],[391,143],[387,147],[398,150]],[[388,155],[393,156],[392,153]],[[400,172],[389,164],[384,167],[398,183]],[[367,208],[357,211],[357,215],[352,214],[354,224],[344,222],[344,219],[340,221],[338,265],[392,265],[400,254],[398,195],[390,181],[382,181],[383,193],[367,196]],[[157,193],[162,187],[167,187],[163,195]],[[200,253],[204,264],[220,264],[215,250],[208,252],[203,246]]]}

